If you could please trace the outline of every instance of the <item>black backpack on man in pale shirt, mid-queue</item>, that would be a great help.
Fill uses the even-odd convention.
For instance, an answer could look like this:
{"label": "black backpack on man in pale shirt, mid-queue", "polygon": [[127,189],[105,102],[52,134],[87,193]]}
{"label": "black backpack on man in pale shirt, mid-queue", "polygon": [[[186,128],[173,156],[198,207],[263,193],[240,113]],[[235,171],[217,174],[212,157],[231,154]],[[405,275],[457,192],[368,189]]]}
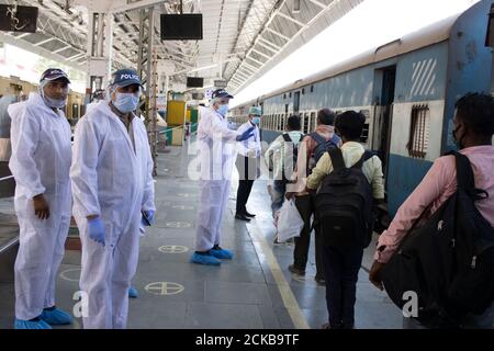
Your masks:
{"label": "black backpack on man in pale shirt, mid-queue", "polygon": [[368,247],[372,238],[372,189],[362,165],[373,155],[366,151],[347,168],[339,148],[328,151],[333,172],[327,174],[315,196],[316,220],[324,246]]}

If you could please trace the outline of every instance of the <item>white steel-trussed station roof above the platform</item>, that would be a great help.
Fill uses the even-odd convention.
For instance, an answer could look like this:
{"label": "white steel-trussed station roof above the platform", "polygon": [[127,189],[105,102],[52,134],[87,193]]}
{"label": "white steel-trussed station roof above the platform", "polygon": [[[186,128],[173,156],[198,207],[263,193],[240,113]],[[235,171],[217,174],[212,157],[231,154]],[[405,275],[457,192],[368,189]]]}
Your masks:
{"label": "white steel-trussed station roof above the platform", "polygon": [[[0,33],[0,41],[86,70],[92,0],[20,0],[37,7],[36,33]],[[180,13],[180,1],[99,0],[113,12],[114,68],[136,67],[139,10],[154,7],[158,73],[183,90],[187,76],[223,79],[235,93],[363,0],[183,0],[183,13],[203,14],[202,41],[160,41],[159,14]],[[2,3],[13,4],[5,0]],[[220,67],[220,63],[223,63]]]}

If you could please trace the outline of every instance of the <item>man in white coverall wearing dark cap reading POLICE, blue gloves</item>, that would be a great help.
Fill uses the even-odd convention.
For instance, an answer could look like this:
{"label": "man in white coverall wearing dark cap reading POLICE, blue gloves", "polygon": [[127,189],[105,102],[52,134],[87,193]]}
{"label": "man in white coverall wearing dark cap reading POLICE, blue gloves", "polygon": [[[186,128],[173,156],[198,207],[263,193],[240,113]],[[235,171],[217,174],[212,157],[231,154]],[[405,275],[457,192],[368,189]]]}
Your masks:
{"label": "man in white coverall wearing dark cap reading POLICE, blue gloves", "polygon": [[144,123],[133,113],[139,95],[135,70],[117,70],[109,87],[111,100],[100,101],[76,126],[70,178],[82,242],[87,329],[126,327],[139,224],[154,220],[153,159]]}

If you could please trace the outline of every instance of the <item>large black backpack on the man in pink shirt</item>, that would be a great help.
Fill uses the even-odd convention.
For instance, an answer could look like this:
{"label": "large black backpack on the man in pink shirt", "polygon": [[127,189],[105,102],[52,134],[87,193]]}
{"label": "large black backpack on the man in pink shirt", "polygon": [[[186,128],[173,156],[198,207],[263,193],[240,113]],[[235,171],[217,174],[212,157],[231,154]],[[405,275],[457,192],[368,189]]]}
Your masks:
{"label": "large black backpack on the man in pink shirt", "polygon": [[[469,159],[456,151],[457,191],[425,224],[405,236],[381,276],[398,307],[416,292],[418,314],[429,328],[461,327],[467,314],[482,314],[494,301],[494,229],[474,202],[485,191],[474,188]],[[424,213],[428,212],[426,210]]]}

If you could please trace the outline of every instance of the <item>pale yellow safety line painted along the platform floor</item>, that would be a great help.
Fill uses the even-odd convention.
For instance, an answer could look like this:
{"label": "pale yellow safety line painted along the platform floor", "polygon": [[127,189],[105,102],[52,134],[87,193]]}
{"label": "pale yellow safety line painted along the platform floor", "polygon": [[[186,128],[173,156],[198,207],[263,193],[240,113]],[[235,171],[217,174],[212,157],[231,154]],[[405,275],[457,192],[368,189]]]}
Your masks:
{"label": "pale yellow safety line painted along the platform floor", "polygon": [[284,307],[288,309],[290,314],[290,318],[292,319],[293,325],[296,329],[311,329],[305,317],[296,302],[295,296],[293,295],[292,290],[290,288],[287,279],[278,263],[274,253],[272,252],[271,247],[262,235],[259,226],[257,224],[246,224],[247,230],[251,234],[252,244],[256,248],[257,254],[262,256],[268,262],[269,270],[271,271],[272,276],[277,283],[277,287],[280,292],[281,299],[283,301]]}

